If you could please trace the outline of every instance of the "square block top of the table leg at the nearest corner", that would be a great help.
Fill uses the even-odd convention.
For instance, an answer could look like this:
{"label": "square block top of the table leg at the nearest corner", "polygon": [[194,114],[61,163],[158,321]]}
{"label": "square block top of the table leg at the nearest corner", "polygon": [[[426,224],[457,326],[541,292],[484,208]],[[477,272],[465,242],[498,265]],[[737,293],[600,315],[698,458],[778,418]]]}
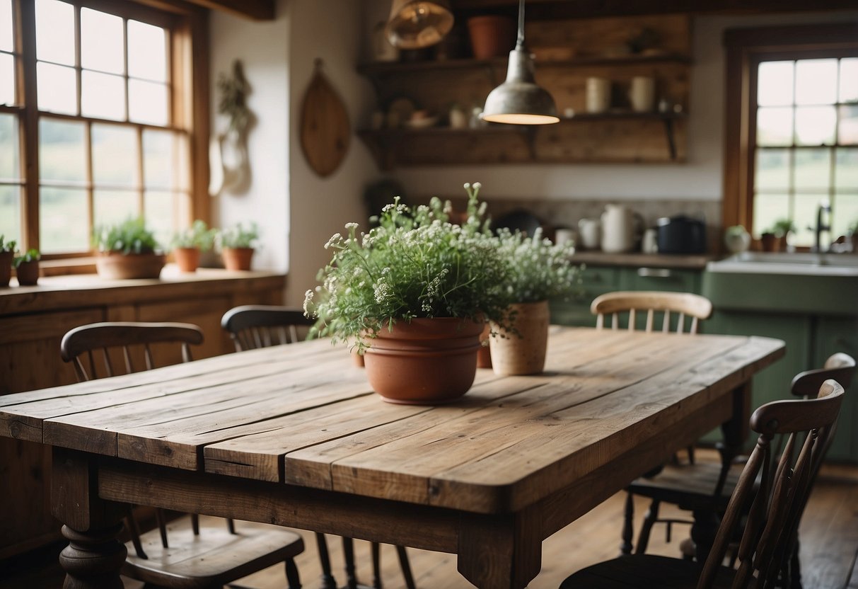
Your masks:
{"label": "square block top of the table leg at the nearest corner", "polygon": [[539,513],[463,516],[458,569],[480,589],[523,589],[542,567]]}

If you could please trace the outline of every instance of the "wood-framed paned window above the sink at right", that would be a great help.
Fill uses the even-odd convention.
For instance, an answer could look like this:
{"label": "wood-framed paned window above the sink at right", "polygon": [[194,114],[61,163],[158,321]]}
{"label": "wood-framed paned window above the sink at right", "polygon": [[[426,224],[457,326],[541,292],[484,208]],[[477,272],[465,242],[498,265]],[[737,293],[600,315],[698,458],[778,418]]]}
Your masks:
{"label": "wood-framed paned window above the sink at right", "polygon": [[725,225],[754,236],[779,219],[792,245],[814,246],[817,212],[831,235],[858,221],[858,37],[854,27],[728,32]]}

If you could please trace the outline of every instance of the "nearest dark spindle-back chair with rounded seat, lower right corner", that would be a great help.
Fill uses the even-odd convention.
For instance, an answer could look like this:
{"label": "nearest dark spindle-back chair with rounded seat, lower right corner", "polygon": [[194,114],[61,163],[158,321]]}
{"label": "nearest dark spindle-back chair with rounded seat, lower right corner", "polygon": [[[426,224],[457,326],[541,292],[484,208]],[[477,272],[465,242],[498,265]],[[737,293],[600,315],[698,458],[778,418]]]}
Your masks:
{"label": "nearest dark spindle-back chair with rounded seat, lower right corner", "polygon": [[[801,513],[842,402],[843,387],[826,380],[817,398],[774,401],[754,411],[751,428],[759,434],[757,445],[702,566],[667,556],[625,555],[572,574],[560,588],[790,586],[787,563],[795,549]],[[789,436],[779,460],[771,444],[777,434]],[[736,555],[739,567],[734,569],[722,563],[740,519],[745,525]]]}

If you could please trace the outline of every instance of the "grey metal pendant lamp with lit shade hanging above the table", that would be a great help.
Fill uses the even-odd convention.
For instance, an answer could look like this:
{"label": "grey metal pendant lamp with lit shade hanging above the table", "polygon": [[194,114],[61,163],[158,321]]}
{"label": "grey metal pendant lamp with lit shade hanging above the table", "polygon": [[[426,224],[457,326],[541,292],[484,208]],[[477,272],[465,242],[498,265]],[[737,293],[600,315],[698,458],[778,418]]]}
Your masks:
{"label": "grey metal pendant lamp with lit shade hanging above the table", "polygon": [[510,52],[506,82],[488,94],[482,119],[508,124],[549,124],[560,120],[551,94],[534,81],[533,56],[524,46],[524,0],[518,3],[518,40]]}

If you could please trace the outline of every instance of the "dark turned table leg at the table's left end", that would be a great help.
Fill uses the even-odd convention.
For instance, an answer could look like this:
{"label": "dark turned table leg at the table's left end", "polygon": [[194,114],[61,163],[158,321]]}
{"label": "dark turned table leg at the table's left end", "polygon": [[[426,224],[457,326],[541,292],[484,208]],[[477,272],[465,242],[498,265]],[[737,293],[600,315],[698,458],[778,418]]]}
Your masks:
{"label": "dark turned table leg at the table's left end", "polygon": [[59,557],[66,572],[63,588],[122,589],[119,568],[127,550],[117,534],[128,506],[99,497],[94,456],[54,448],[51,508],[69,539]]}

